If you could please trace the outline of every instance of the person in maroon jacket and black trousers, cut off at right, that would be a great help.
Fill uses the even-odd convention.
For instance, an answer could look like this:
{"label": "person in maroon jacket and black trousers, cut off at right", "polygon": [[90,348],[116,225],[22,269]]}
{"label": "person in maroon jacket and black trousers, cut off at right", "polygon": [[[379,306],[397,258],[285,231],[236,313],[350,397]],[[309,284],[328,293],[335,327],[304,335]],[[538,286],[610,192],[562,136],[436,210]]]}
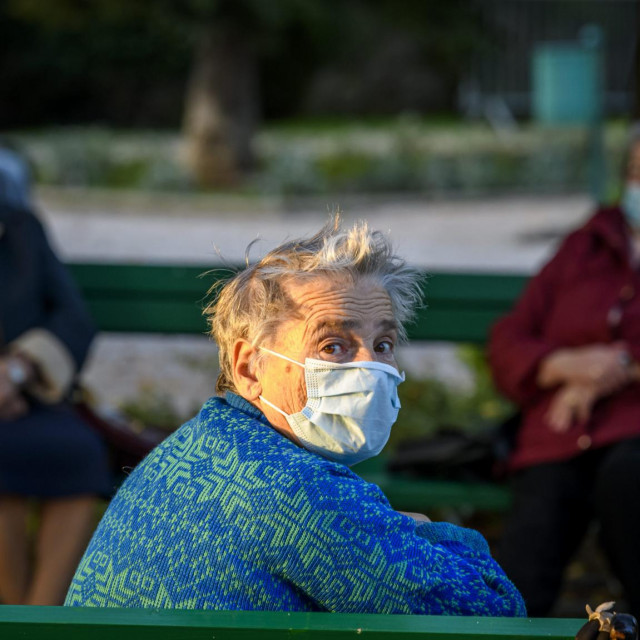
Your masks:
{"label": "person in maroon jacket and black trousers, cut off at right", "polygon": [[571,233],[491,334],[494,378],[522,412],[499,558],[532,616],[596,520],[640,617],[640,135],[626,167],[620,205]]}

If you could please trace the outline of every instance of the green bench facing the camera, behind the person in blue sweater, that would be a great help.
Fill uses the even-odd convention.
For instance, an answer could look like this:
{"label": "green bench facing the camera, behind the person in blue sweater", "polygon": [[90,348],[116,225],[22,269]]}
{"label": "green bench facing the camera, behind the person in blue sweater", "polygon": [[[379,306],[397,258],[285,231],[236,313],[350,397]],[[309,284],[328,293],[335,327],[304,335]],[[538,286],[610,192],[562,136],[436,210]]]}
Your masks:
{"label": "green bench facing the camera, behind the person in blue sweater", "polygon": [[[233,268],[184,265],[71,264],[101,331],[204,334],[208,289]],[[527,277],[513,274],[430,273],[427,306],[408,327],[412,341],[483,344],[491,324],[509,310]],[[358,465],[400,510],[471,507],[504,511],[507,486],[415,479],[385,470],[379,457]]]}

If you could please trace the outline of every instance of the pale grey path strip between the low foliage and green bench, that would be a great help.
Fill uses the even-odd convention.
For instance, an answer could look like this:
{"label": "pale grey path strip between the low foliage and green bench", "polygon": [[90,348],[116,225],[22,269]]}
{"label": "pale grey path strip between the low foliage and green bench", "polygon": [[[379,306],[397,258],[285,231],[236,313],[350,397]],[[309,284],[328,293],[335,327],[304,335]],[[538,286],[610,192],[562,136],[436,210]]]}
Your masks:
{"label": "pale grey path strip between the low foliage and green bench", "polygon": [[[67,259],[198,264],[242,261],[256,239],[251,257],[258,257],[287,237],[318,229],[340,204],[314,201],[292,211],[277,201],[158,195],[113,201],[59,191],[41,191],[38,200]],[[366,218],[388,231],[399,253],[422,267],[516,271],[537,269],[590,207],[579,195],[341,206],[347,220]]]}

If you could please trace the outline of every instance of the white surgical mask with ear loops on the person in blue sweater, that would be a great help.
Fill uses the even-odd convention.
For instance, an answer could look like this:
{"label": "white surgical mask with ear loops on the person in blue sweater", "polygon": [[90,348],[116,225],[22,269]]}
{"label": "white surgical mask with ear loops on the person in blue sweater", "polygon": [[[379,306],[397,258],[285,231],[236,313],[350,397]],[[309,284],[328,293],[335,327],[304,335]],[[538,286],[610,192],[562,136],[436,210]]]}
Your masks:
{"label": "white surgical mask with ear loops on the person in blue sweater", "polygon": [[281,413],[305,449],[329,460],[353,465],[378,455],[398,417],[398,385],[404,373],[380,362],[339,364],[306,358],[304,364],[262,347],[304,368],[307,404],[302,411]]}

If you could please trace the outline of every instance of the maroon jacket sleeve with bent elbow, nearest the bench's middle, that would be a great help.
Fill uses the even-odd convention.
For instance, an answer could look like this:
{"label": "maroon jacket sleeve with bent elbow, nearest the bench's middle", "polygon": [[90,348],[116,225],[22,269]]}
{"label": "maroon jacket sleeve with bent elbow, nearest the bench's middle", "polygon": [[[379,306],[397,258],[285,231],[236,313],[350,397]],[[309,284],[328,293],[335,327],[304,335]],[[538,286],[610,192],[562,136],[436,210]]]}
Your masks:
{"label": "maroon jacket sleeve with bent elbow, nearest the bench's middle", "polygon": [[492,327],[489,363],[496,385],[519,405],[540,391],[536,383],[540,362],[558,349],[545,335],[547,316],[561,287],[571,256],[579,253],[578,234],[570,235],[540,273],[533,277],[513,310]]}

